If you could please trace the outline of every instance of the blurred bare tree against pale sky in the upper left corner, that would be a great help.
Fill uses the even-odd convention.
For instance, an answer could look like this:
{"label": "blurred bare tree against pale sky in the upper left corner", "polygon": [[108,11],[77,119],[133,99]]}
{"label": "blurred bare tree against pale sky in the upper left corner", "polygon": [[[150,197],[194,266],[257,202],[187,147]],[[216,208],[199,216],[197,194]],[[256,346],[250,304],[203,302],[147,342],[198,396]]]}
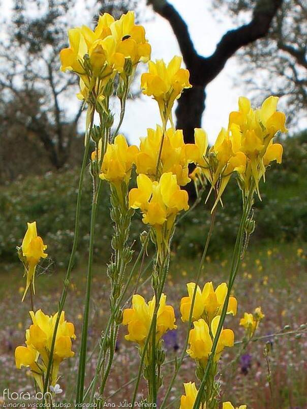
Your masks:
{"label": "blurred bare tree against pale sky in the upper left corner", "polygon": [[[18,172],[13,167],[21,167],[20,162],[19,168],[13,163],[10,169],[11,163],[5,161],[8,146],[15,145],[28,160],[32,158],[29,147],[45,153],[56,169],[69,160],[82,111],[75,98],[68,103],[77,92],[78,80],[59,72],[58,54],[67,46],[67,29],[78,24],[80,5],[75,0],[13,0],[12,21],[0,43],[0,134],[5,142],[0,172],[4,177],[15,177]],[[94,7],[85,0],[81,7],[87,11],[82,20],[87,16],[89,23],[103,12],[119,16],[134,8],[135,2],[101,0]],[[17,140],[18,147],[12,143]],[[44,165],[46,160],[40,158]],[[26,160],[25,164],[31,167]]]}

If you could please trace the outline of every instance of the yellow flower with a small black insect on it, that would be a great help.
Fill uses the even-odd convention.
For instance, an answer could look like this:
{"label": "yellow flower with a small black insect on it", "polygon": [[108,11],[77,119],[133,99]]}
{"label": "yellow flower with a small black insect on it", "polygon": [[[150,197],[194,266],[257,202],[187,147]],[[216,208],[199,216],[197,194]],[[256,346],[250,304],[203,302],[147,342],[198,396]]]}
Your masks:
{"label": "yellow flower with a small black insect on it", "polygon": [[136,25],[134,20],[134,12],[128,11],[111,25],[112,35],[116,40],[116,51],[125,58],[131,58],[133,65],[139,61],[147,62],[151,53],[151,47],[145,39],[144,27]]}

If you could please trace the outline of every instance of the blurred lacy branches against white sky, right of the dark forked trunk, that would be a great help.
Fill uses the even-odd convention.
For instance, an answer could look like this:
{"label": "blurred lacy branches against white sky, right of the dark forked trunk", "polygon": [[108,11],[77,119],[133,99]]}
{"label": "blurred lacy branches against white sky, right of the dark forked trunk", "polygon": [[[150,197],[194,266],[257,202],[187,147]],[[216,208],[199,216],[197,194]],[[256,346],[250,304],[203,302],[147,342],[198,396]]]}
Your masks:
{"label": "blurred lacy branches against white sky, right of the dark forked trunk", "polygon": [[[237,20],[254,3],[254,0],[215,0],[213,5],[226,6],[226,11]],[[306,54],[307,3],[305,0],[284,0],[267,37],[239,50],[240,81],[245,79],[257,103],[264,94],[283,97],[283,108],[289,119],[295,121],[301,116],[299,111],[307,110]]]}

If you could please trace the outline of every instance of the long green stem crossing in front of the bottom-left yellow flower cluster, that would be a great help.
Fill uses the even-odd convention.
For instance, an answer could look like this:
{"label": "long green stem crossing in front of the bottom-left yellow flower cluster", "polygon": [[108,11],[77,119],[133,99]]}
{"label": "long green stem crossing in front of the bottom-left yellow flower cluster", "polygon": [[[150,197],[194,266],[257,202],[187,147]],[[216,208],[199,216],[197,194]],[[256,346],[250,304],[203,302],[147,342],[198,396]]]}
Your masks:
{"label": "long green stem crossing in front of the bottom-left yellow flower cluster", "polygon": [[[69,287],[69,279],[70,279],[70,273],[74,265],[75,261],[75,255],[76,255],[76,250],[77,250],[77,245],[78,245],[78,239],[79,239],[79,231],[80,231],[80,210],[81,210],[81,196],[82,196],[82,188],[83,188],[83,179],[84,179],[84,171],[86,168],[86,163],[87,163],[87,158],[88,158],[88,151],[89,151],[89,146],[90,146],[90,131],[93,128],[93,122],[94,122],[94,112],[90,120],[90,125],[89,125],[89,131],[87,135],[87,140],[85,144],[85,149],[84,149],[84,154],[83,154],[83,160],[82,160],[82,166],[81,166],[81,171],[80,171],[80,178],[79,178],[79,185],[78,185],[78,196],[77,196],[77,205],[76,205],[76,217],[75,217],[75,232],[74,232],[74,241],[73,241],[73,247],[66,271],[66,276],[64,279],[64,287],[62,291],[62,296],[60,298],[59,304],[58,304],[58,311],[57,311],[57,317],[54,325],[54,331],[53,331],[53,336],[52,336],[52,341],[51,341],[51,347],[50,347],[50,357],[53,357],[53,351],[54,351],[54,344],[55,344],[55,338],[56,338],[56,333],[57,333],[57,328],[60,320],[61,313],[64,308],[67,292],[68,292],[68,287]],[[51,371],[51,366],[52,366],[52,359],[49,359],[48,366],[47,366],[47,371],[46,371],[46,376],[45,376],[45,382],[44,382],[44,393],[43,396],[45,396],[48,388],[48,381],[49,381],[49,376],[50,376],[50,371]],[[45,398],[43,397],[43,403],[45,401]]]}

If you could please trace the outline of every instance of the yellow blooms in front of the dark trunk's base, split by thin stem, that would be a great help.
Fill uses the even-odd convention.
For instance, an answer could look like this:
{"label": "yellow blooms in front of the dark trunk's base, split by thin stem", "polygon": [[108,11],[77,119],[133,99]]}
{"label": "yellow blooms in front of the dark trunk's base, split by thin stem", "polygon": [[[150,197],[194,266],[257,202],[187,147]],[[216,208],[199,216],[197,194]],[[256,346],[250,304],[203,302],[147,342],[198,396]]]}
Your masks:
{"label": "yellow blooms in front of the dark trunk's base, split by thin stem", "polygon": [[136,158],[137,173],[143,173],[155,180],[163,173],[172,172],[180,186],[186,185],[191,180],[188,166],[193,162],[198,148],[193,144],[185,144],[182,130],[168,129],[164,135],[157,174],[162,136],[162,128],[157,125],[156,130],[147,129],[147,136],[140,138],[140,152]]}

